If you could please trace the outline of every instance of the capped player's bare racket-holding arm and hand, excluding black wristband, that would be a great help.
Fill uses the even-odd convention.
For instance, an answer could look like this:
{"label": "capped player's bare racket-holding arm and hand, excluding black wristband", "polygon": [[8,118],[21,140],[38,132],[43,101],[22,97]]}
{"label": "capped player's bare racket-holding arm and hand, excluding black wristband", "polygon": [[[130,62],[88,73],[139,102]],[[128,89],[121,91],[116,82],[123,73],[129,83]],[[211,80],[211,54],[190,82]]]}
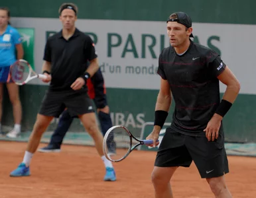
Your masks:
{"label": "capped player's bare racket-holding arm and hand, excluding black wristband", "polygon": [[[160,82],[160,90],[159,95],[157,96],[157,103],[155,107],[155,111],[163,111],[168,112],[170,110],[170,104],[172,102],[172,94],[170,92],[170,85],[168,81],[161,79]],[[159,145],[157,139],[159,139],[161,127],[159,125],[154,125],[154,129],[151,134],[147,137],[147,139],[153,139],[153,145],[151,147],[155,147]]]}

